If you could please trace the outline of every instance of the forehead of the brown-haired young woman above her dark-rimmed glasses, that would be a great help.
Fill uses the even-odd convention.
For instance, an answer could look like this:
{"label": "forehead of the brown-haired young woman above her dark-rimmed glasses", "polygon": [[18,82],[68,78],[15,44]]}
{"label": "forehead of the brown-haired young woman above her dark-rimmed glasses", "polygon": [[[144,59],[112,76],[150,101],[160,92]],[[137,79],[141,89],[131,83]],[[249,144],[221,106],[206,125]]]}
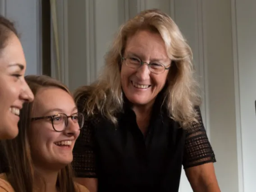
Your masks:
{"label": "forehead of the brown-haired young woman above her dark-rimmed glasses", "polygon": [[33,113],[45,115],[49,110],[61,109],[63,113],[69,114],[75,106],[73,97],[68,92],[57,87],[46,87],[37,92],[33,101]]}

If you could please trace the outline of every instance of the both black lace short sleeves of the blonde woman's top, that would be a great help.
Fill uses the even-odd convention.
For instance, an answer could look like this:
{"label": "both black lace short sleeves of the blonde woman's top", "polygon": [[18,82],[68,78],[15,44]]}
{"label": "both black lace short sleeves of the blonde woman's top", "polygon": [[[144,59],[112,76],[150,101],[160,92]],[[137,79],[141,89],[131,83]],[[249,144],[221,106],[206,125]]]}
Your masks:
{"label": "both black lace short sleeves of the blonde woman's top", "polygon": [[[85,98],[78,101],[78,110],[82,112],[85,106]],[[215,162],[215,155],[206,135],[201,112],[196,108],[198,123],[193,123],[192,128],[186,130],[185,148],[183,151],[184,169]],[[73,149],[73,169],[76,177],[96,178],[96,155],[94,141],[94,124],[97,120],[86,120],[81,129]]]}

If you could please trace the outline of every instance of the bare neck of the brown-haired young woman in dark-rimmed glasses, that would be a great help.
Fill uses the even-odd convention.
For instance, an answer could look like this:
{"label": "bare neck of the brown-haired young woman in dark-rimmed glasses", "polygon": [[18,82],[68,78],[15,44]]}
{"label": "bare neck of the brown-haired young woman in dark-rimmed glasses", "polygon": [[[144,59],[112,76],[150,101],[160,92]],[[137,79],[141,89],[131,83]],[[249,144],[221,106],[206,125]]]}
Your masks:
{"label": "bare neck of the brown-haired young woman in dark-rimmed glasses", "polygon": [[56,183],[58,171],[35,169],[34,186],[36,192],[45,189],[46,192],[57,192]]}

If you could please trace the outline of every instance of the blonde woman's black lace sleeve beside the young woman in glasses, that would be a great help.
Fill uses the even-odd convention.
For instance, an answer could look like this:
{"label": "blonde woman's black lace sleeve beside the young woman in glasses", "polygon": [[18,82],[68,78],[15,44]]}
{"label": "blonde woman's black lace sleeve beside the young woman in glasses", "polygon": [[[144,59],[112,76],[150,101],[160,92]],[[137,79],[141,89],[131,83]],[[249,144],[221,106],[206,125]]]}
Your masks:
{"label": "blonde woman's black lace sleeve beside the young woman in glasses", "polygon": [[[85,105],[85,99],[80,98],[77,105],[78,111],[82,112]],[[96,178],[94,132],[90,120],[85,120],[83,128],[81,129],[80,135],[73,148],[72,166],[76,177]]]}

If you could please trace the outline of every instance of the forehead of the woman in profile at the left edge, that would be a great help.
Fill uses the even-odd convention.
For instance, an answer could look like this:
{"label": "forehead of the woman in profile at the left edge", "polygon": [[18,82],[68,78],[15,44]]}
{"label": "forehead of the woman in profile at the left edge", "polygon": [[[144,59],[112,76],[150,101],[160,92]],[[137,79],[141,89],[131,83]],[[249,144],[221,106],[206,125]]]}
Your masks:
{"label": "forehead of the woman in profile at the left edge", "polygon": [[1,67],[7,67],[8,64],[22,64],[26,67],[26,60],[21,42],[18,37],[10,32],[8,40],[5,42],[5,47],[0,53]]}

